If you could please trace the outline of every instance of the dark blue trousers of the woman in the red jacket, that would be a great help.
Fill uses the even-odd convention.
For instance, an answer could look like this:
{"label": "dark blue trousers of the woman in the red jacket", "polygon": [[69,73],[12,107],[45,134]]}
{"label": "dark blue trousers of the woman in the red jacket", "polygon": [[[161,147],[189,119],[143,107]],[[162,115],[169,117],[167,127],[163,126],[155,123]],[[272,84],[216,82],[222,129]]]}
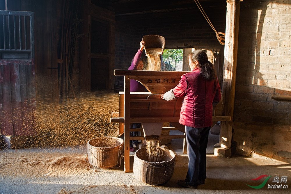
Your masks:
{"label": "dark blue trousers of the woman in the red jacket", "polygon": [[197,186],[198,180],[206,179],[206,148],[210,127],[185,126],[188,172],[185,182],[191,186]]}

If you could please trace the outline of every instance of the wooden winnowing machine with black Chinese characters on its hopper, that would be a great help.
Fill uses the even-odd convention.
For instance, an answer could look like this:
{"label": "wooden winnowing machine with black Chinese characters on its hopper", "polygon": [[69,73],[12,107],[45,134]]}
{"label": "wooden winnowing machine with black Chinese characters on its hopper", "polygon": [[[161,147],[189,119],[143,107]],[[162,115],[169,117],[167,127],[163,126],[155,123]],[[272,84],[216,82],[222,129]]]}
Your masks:
{"label": "wooden winnowing machine with black Chinese characters on its hopper", "polygon": [[[131,123],[149,124],[159,126],[158,123],[170,122],[174,127],[161,127],[156,130],[158,134],[162,130],[180,130],[184,132],[184,126],[179,124],[182,98],[166,101],[160,95],[177,86],[180,78],[187,72],[175,71],[139,71],[139,70],[114,70],[114,75],[124,76],[124,92],[119,92],[119,112],[112,113],[110,122],[119,123],[119,136],[124,134],[124,172],[129,172],[129,141],[142,140],[144,136],[130,136],[130,131],[142,131],[142,128],[129,129]],[[141,82],[148,92],[130,92],[130,79]],[[219,116],[219,108],[214,108],[214,124],[217,121],[228,121],[230,117]],[[145,133],[147,133],[145,131]],[[145,134],[146,135],[146,134]],[[185,135],[159,136],[160,139],[185,138]],[[184,139],[183,153],[186,151]]]}

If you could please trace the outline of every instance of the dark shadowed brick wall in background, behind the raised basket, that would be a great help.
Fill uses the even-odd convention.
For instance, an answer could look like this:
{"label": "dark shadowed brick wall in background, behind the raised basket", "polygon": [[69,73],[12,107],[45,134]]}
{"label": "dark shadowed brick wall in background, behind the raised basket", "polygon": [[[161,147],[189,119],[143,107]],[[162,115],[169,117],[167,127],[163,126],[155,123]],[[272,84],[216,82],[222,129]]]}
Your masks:
{"label": "dark shadowed brick wall in background, behind the raised basket", "polygon": [[[224,1],[223,1],[224,2]],[[207,16],[218,32],[225,33],[226,6],[205,9]],[[201,48],[217,50],[222,47],[206,19],[197,9],[173,14],[144,14],[140,18],[116,17],[115,68],[127,69],[139,49],[144,35],[156,34],[165,38],[165,49]],[[143,52],[144,56],[144,52]],[[115,83],[123,82],[116,77]]]}

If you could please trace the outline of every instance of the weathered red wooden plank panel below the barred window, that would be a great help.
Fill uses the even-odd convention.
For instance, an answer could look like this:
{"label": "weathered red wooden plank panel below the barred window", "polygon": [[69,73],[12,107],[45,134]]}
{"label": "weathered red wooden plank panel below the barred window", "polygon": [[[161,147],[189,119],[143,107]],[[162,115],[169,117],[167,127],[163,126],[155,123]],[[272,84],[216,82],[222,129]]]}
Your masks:
{"label": "weathered red wooden plank panel below the barred window", "polygon": [[33,61],[0,60],[0,134],[34,135]]}

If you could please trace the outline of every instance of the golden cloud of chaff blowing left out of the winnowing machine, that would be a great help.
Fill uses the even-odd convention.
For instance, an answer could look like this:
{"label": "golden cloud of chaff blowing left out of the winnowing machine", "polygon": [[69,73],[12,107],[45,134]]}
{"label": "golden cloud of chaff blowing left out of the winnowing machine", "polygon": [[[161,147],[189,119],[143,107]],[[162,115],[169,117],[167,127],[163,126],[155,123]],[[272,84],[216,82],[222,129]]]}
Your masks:
{"label": "golden cloud of chaff blowing left out of the winnowing machine", "polygon": [[32,110],[26,115],[31,122],[22,130],[33,130],[33,136],[20,147],[73,147],[100,136],[118,136],[118,123],[110,123],[111,113],[118,112],[117,93],[89,93],[62,103],[39,100]]}

